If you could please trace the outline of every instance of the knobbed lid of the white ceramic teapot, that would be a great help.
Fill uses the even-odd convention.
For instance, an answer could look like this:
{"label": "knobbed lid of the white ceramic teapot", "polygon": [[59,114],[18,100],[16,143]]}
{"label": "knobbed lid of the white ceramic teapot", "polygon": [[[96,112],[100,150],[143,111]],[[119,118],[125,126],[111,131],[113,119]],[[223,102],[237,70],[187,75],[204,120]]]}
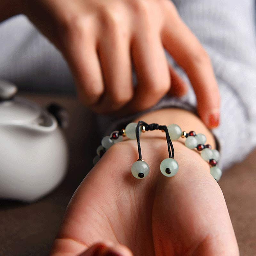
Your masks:
{"label": "knobbed lid of the white ceramic teapot", "polygon": [[0,124],[24,124],[36,120],[41,109],[28,100],[15,97],[17,87],[0,80]]}

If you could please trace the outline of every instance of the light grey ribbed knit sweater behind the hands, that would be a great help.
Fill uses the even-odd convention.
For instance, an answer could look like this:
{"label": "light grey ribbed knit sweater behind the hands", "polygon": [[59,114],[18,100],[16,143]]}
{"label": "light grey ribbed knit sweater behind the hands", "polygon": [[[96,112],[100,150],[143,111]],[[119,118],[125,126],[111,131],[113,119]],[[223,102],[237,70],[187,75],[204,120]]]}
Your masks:
{"label": "light grey ribbed knit sweater behind the hands", "polygon": [[[221,145],[221,164],[228,167],[256,146],[255,1],[173,2],[211,57],[221,94],[221,124],[213,132]],[[0,78],[33,91],[74,92],[75,88],[60,52],[21,15],[0,23]],[[165,97],[154,109],[169,106],[195,110],[191,86],[182,99]],[[103,118],[101,122],[106,120],[115,121]]]}

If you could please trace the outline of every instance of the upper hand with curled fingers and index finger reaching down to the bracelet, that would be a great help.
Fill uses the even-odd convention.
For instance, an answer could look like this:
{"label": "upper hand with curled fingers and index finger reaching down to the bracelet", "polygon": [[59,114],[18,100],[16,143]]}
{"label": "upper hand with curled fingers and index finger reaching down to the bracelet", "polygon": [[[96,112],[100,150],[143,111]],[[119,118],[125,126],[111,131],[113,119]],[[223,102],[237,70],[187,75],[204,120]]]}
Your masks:
{"label": "upper hand with curled fingers and index finger reaching down to the bracelet", "polygon": [[[211,61],[169,0],[20,0],[23,12],[62,52],[80,99],[97,112],[154,106],[186,84],[168,67],[164,48],[184,68],[198,111],[219,124],[219,92]],[[132,62],[138,86],[132,86]],[[124,109],[124,108],[123,108]]]}

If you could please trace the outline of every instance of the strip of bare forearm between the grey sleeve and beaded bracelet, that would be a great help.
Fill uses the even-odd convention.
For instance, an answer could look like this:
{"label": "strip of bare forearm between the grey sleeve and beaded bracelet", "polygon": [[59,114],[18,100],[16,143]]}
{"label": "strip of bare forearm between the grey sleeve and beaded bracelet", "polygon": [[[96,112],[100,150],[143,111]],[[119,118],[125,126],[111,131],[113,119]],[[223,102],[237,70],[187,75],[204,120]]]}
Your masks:
{"label": "strip of bare forearm between the grey sleeve and beaded bracelet", "polygon": [[[178,124],[182,131],[203,133],[207,138],[206,143],[210,144],[212,148],[216,147],[212,132],[204,125],[199,117],[187,110],[180,108],[159,109],[138,117],[134,122],[138,122],[139,120],[143,120],[150,124]],[[165,137],[165,134],[159,131],[152,131],[150,133],[146,133],[144,136]],[[184,139],[180,138],[180,141],[184,142]]]}

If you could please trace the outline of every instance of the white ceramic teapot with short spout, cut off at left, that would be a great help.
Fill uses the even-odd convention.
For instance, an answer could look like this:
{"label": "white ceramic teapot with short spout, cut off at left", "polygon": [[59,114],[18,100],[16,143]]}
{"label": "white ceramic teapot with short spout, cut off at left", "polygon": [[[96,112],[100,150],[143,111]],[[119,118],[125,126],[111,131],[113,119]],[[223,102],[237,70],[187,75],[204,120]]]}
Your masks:
{"label": "white ceramic teapot with short spout, cut off at left", "polygon": [[16,92],[0,80],[0,198],[33,202],[63,179],[68,150],[56,118]]}

